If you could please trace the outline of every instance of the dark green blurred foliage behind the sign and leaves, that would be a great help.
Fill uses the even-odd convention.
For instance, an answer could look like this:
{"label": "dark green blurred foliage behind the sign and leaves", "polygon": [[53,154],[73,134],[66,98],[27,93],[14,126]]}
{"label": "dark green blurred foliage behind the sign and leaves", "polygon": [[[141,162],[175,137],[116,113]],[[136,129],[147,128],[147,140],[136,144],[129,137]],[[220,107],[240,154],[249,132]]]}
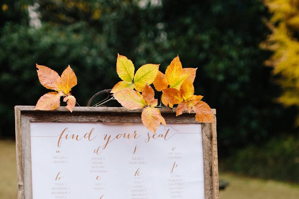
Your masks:
{"label": "dark green blurred foliage behind the sign and leaves", "polygon": [[0,27],[2,137],[14,135],[14,105],[35,105],[48,92],[35,63],[59,74],[69,64],[78,78],[72,92],[82,106],[119,81],[117,53],[136,68],[161,63],[165,72],[177,54],[183,67],[198,67],[195,94],[217,109],[220,158],[294,131],[297,109],[274,102],[281,90],[272,69],[263,65],[270,52],[259,44],[270,32],[259,0],[34,2],[41,28],[29,25],[27,8],[33,2],[1,2],[8,5]]}

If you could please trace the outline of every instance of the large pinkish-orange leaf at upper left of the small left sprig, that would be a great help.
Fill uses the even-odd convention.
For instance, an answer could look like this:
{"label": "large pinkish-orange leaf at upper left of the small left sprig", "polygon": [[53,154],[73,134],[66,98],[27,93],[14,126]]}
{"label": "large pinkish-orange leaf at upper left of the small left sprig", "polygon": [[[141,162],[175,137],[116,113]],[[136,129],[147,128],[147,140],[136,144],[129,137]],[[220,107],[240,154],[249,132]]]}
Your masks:
{"label": "large pinkish-orange leaf at upper left of the small left sprig", "polygon": [[46,66],[40,66],[36,64],[36,67],[38,68],[37,75],[40,83],[47,89],[59,91],[60,76],[58,75],[58,73]]}

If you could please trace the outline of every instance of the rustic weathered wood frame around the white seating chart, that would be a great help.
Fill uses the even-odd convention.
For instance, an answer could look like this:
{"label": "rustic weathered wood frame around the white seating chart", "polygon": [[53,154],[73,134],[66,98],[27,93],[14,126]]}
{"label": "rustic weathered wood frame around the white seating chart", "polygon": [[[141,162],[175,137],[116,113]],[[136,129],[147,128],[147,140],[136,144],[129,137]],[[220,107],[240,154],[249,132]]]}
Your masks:
{"label": "rustic weathered wood frame around the white seating chart", "polygon": [[[34,110],[34,106],[15,107],[18,199],[32,199],[30,122],[141,122],[142,109],[114,107],[65,107],[54,111]],[[198,123],[194,113],[175,117],[175,109],[159,109],[166,123]],[[202,123],[205,199],[219,198],[216,110],[213,123]],[[130,117],[128,117],[130,115]]]}

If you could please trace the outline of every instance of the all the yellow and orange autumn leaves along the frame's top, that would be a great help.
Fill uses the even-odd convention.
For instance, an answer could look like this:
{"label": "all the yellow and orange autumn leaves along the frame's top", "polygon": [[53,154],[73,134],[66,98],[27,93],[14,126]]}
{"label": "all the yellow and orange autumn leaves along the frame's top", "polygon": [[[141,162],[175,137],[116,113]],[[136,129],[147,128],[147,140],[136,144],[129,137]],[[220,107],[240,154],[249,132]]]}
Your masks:
{"label": "all the yellow and orange autumn leaves along the frame's top", "polygon": [[[76,99],[70,93],[71,88],[77,84],[77,78],[71,67],[67,67],[61,77],[54,70],[36,64],[40,83],[48,89],[57,92],[49,92],[38,100],[37,110],[54,110],[60,105],[60,97],[67,102],[66,108],[71,112],[74,109]],[[156,132],[160,123],[166,125],[159,109],[158,99],[154,98],[154,89],[150,84],[154,83],[156,90],[163,92],[161,101],[167,107],[173,108],[178,104],[176,116],[188,110],[196,113],[199,122],[212,122],[212,111],[208,104],[201,101],[201,95],[194,95],[193,82],[197,68],[183,68],[179,57],[173,59],[167,67],[165,75],[159,71],[159,64],[145,64],[135,73],[133,62],[122,55],[117,55],[116,72],[122,81],[113,88],[113,97],[127,109],[141,109],[142,123],[150,131]],[[135,73],[135,75],[134,75]],[[135,89],[135,90],[134,90]],[[141,92],[141,93],[140,93]]]}

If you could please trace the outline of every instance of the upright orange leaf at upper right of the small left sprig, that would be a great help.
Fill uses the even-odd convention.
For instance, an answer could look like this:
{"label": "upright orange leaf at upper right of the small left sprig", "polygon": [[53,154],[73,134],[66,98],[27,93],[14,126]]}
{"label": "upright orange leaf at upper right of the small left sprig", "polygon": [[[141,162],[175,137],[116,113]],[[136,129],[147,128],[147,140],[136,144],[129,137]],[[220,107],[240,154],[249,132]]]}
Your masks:
{"label": "upright orange leaf at upper right of the small left sprig", "polygon": [[67,95],[71,89],[77,85],[77,77],[71,69],[70,66],[68,66],[64,72],[62,72],[61,78],[61,91]]}

